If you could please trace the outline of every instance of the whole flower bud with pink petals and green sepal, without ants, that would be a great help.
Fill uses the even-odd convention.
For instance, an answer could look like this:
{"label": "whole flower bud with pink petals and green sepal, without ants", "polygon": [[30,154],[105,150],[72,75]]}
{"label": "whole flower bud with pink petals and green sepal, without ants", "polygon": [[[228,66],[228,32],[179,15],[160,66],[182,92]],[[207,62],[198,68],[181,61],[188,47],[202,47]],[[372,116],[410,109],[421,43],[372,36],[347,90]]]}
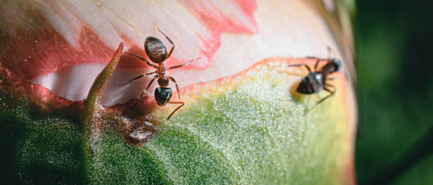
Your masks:
{"label": "whole flower bud with pink petals and green sepal, without ants", "polygon": [[[219,13],[225,13],[226,19],[215,18],[221,15],[215,12],[201,11],[209,7],[206,3],[178,4],[182,11],[195,11],[192,17],[184,15],[190,21],[185,25],[198,20],[200,26],[207,28],[195,30],[198,35],[185,35],[202,38],[187,44],[176,39],[178,35],[168,26],[170,20],[155,18],[161,29],[166,28],[171,33],[168,35],[174,35],[175,44],[179,43],[175,51],[191,49],[193,45],[198,49],[191,51],[203,56],[201,62],[192,63],[189,69],[171,74],[180,85],[179,94],[171,87],[171,99],[183,101],[185,106],[166,120],[176,106],[157,106],[151,97],[153,90],[137,101],[144,89],[142,84],[150,79],[119,86],[137,74],[149,72],[149,67],[125,54],[125,51],[139,52],[146,56],[135,45],[137,35],[128,35],[127,30],[116,25],[124,24],[126,19],[123,22],[110,19],[113,17],[107,10],[115,7],[112,5],[115,3],[7,2],[11,9],[24,12],[23,16],[42,15],[39,20],[43,21],[30,19],[35,29],[25,30],[18,24],[15,33],[5,28],[1,35],[7,44],[1,47],[0,65],[0,144],[4,147],[1,181],[4,184],[354,184],[356,108],[350,69],[343,64],[332,75],[335,80],[330,83],[335,86],[335,95],[317,104],[329,93],[299,94],[296,88],[308,72],[304,67],[289,67],[297,64],[314,68],[316,60],[305,56],[308,55],[323,58],[317,67],[321,69],[328,61],[323,56],[327,55],[326,47],[338,47],[330,30],[325,29],[325,19],[318,16],[321,11],[313,11],[315,4],[301,1],[293,1],[290,6],[284,1],[232,3],[214,4]],[[279,5],[282,8],[274,9]],[[124,34],[119,33],[112,40],[125,43],[112,46],[114,41],[107,39],[109,30],[93,27],[93,19],[74,14],[93,6],[103,13],[109,12],[105,14],[106,20],[115,32]],[[48,7],[55,9],[47,11]],[[69,7],[66,13],[64,7]],[[121,12],[122,6],[118,7]],[[311,23],[296,29],[323,28],[315,34],[306,33],[310,39],[323,36],[320,42],[314,41],[314,47],[320,49],[306,49],[305,55],[297,57],[284,50],[265,49],[284,38],[274,35],[270,41],[263,41],[272,33],[266,30],[267,26],[276,23],[284,28],[280,21],[266,21],[267,18],[285,15],[296,20],[297,14],[287,11],[288,7],[301,9],[306,19],[311,19]],[[277,15],[270,15],[272,9]],[[233,12],[241,15],[233,16]],[[76,19],[86,24],[77,37],[68,37],[76,31],[72,28]],[[71,29],[60,29],[61,26]],[[144,30],[147,28],[153,26]],[[234,33],[221,35],[224,31]],[[31,36],[21,38],[22,33]],[[291,35],[296,31],[277,33]],[[301,43],[306,39],[295,37]],[[246,45],[248,40],[263,42]],[[286,41],[276,45],[289,46]],[[22,47],[8,52],[11,46]],[[33,57],[25,57],[27,63],[23,64],[21,57],[26,50]],[[258,51],[261,53],[251,54]],[[173,52],[173,59],[166,64],[176,65],[186,57],[190,56]],[[136,101],[137,106],[131,108]]]}

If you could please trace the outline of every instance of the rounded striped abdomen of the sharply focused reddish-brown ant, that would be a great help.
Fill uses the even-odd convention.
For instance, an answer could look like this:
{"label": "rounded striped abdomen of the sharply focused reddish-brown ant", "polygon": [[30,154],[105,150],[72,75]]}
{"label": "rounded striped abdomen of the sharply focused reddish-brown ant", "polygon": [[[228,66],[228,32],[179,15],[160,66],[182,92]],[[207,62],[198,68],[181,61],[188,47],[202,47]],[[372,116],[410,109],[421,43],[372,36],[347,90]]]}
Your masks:
{"label": "rounded striped abdomen of the sharply focused reddish-brown ant", "polygon": [[167,59],[167,48],[158,38],[149,36],[144,42],[144,50],[146,55],[152,62],[162,63]]}

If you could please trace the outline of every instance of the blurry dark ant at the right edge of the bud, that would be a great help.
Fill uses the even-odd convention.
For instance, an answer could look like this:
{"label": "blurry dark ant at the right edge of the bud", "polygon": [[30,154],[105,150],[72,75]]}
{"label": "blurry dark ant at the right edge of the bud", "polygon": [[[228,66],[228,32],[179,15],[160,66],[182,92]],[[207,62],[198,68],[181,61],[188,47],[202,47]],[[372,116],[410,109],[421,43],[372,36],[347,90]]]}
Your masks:
{"label": "blurry dark ant at the right edge of the bud", "polygon": [[[296,91],[298,91],[299,93],[315,94],[322,90],[328,91],[330,93],[328,96],[325,96],[325,98],[318,101],[316,103],[316,105],[318,105],[319,103],[322,103],[330,96],[333,96],[335,94],[335,87],[332,84],[327,84],[326,82],[328,80],[335,79],[333,77],[328,77],[328,75],[333,74],[333,72],[338,72],[338,70],[340,69],[341,62],[340,60],[337,60],[335,58],[330,58],[330,59],[320,59],[317,57],[308,57],[308,58],[316,59],[317,61],[316,65],[314,65],[314,70],[315,70],[314,72],[311,72],[311,69],[310,67],[308,67],[308,65],[289,65],[289,67],[304,66],[308,70],[308,75],[301,80],[301,83],[296,89]],[[318,69],[318,63],[321,61],[327,63],[321,69]]]}

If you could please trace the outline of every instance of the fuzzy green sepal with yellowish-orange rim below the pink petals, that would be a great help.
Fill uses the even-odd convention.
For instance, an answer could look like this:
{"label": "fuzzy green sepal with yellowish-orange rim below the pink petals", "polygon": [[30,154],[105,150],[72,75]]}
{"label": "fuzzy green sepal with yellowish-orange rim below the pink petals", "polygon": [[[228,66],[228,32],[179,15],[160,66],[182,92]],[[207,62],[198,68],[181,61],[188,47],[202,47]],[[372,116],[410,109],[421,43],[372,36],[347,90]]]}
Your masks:
{"label": "fuzzy green sepal with yellowish-orange rim below the pink petals", "polygon": [[[335,96],[314,107],[327,94],[291,92],[305,75],[288,69],[291,62],[310,61],[270,58],[233,77],[185,87],[186,105],[169,121],[175,106],[157,108],[151,116],[161,125],[142,145],[125,140],[123,114],[85,116],[83,124],[32,114],[27,101],[18,101],[0,109],[14,161],[7,178],[28,184],[352,183],[350,86],[338,74]],[[1,101],[15,102],[8,97]],[[81,137],[89,125],[98,133]]]}

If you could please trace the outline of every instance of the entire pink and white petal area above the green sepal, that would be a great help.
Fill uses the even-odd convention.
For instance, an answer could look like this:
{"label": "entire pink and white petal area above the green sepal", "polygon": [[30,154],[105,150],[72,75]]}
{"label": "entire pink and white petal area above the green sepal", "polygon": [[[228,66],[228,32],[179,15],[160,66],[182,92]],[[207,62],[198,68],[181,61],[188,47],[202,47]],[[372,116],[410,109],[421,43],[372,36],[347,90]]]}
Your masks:
{"label": "entire pink and white petal area above the green sepal", "polygon": [[[148,35],[156,35],[171,47],[154,31],[154,21],[176,45],[168,66],[203,57],[188,65],[190,69],[168,72],[180,87],[236,74],[266,57],[330,57],[328,46],[333,48],[333,57],[340,56],[325,21],[304,1],[258,1],[258,5],[241,0],[129,4],[40,1],[39,5],[31,6],[29,12],[40,21],[40,28],[31,27],[32,23],[28,23],[32,29],[25,31],[21,25],[11,26],[8,34],[1,35],[7,43],[2,48],[6,51],[2,52],[6,58],[2,67],[16,79],[33,79],[57,96],[73,101],[86,99],[96,74],[121,40],[125,50],[143,57],[142,44]],[[11,23],[26,23],[22,9],[6,11],[23,14],[12,16],[18,20]],[[23,37],[23,33],[30,36]],[[112,106],[139,96],[151,77],[125,86],[118,84],[150,70],[145,67],[140,60],[123,56],[120,68],[103,91],[103,104]],[[154,86],[150,89],[152,92]]]}

